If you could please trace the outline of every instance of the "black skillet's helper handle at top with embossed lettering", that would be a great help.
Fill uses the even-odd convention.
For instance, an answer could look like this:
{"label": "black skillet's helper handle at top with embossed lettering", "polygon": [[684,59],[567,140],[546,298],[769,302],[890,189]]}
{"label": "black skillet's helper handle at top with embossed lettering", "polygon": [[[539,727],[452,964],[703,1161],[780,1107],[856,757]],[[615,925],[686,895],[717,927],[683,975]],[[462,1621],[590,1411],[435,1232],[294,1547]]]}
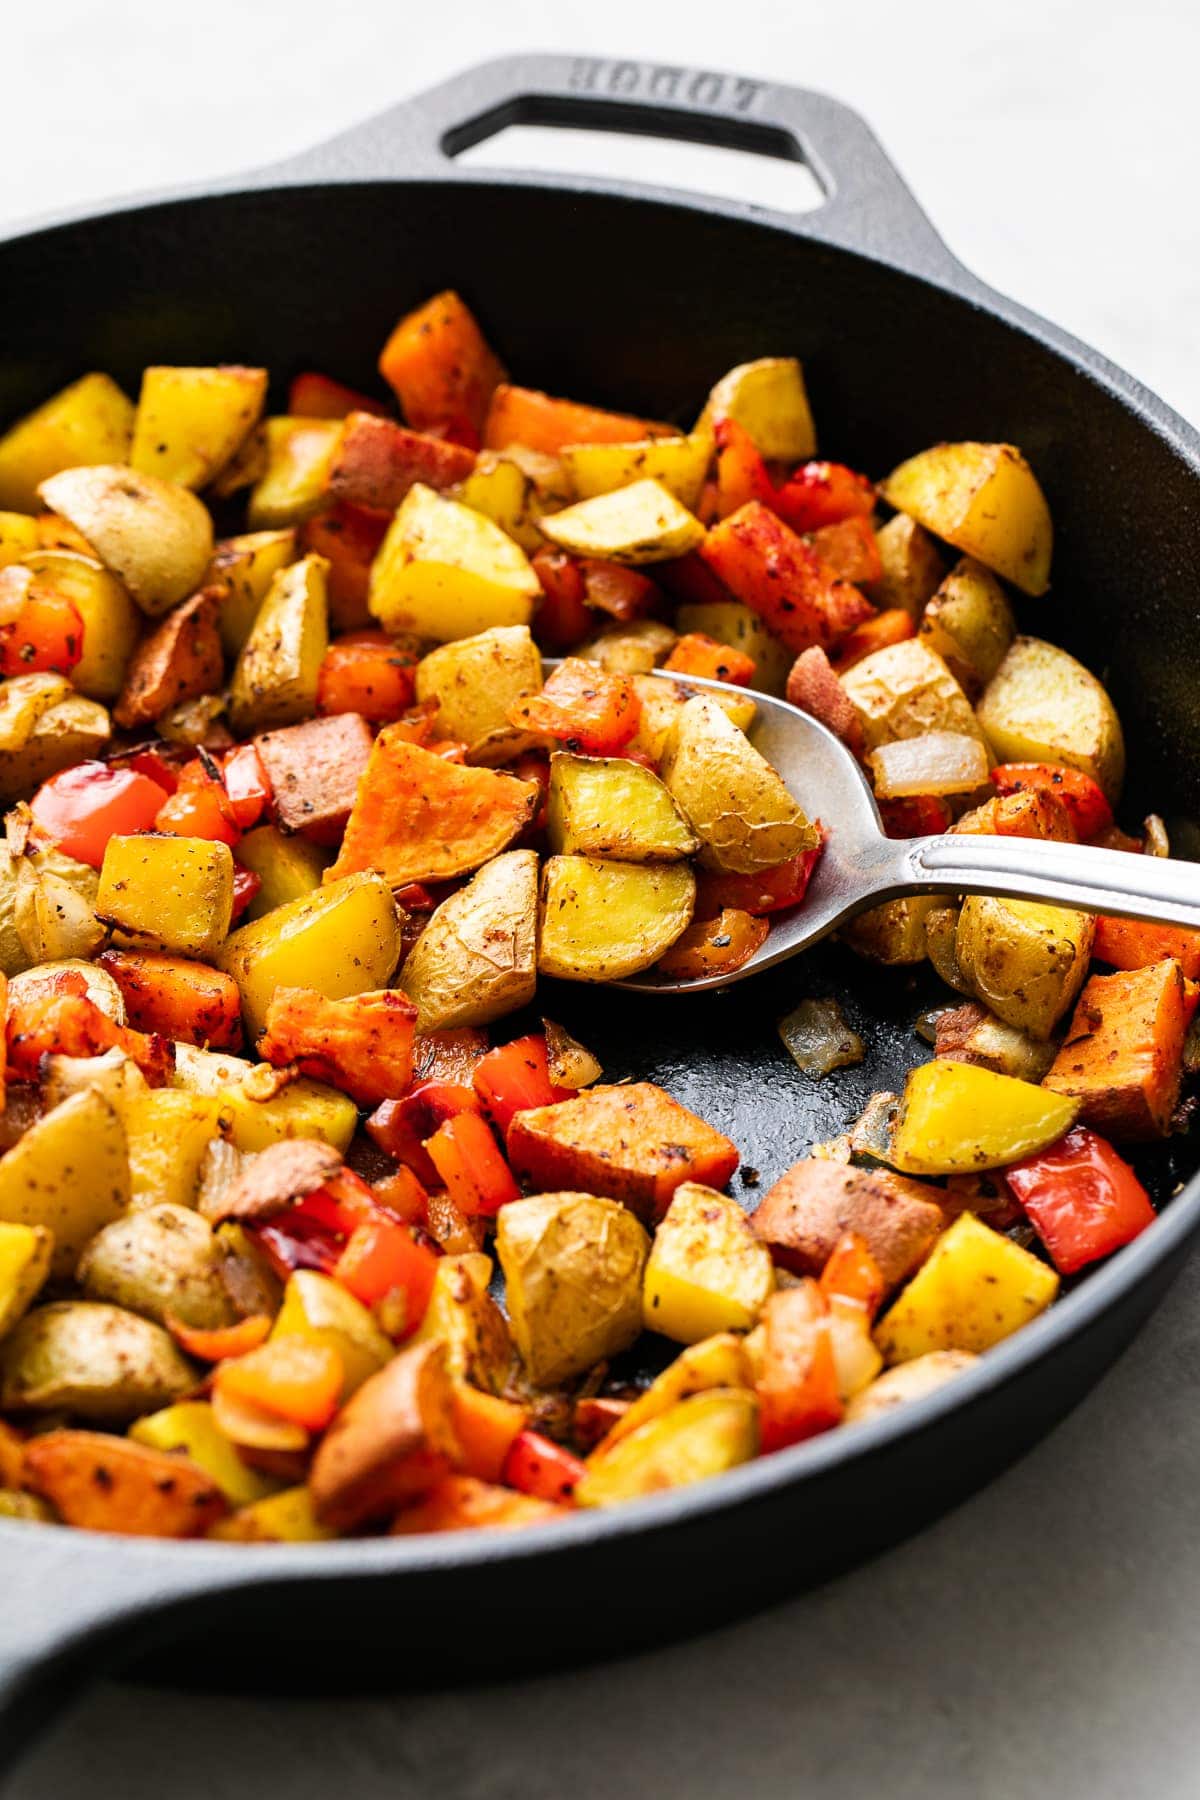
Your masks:
{"label": "black skillet's helper handle at top with embossed lettering", "polygon": [[[824,203],[802,214],[770,211],[775,223],[914,274],[945,277],[959,268],[874,133],[849,106],[808,88],[675,63],[558,54],[497,58],[261,171],[261,180],[414,175],[495,180],[493,171],[457,166],[453,158],[513,124],[628,131],[802,162]],[[524,178],[547,182],[543,175]],[[640,184],[585,176],[558,182],[655,193]],[[747,211],[761,216],[768,209],[747,203]]]}

